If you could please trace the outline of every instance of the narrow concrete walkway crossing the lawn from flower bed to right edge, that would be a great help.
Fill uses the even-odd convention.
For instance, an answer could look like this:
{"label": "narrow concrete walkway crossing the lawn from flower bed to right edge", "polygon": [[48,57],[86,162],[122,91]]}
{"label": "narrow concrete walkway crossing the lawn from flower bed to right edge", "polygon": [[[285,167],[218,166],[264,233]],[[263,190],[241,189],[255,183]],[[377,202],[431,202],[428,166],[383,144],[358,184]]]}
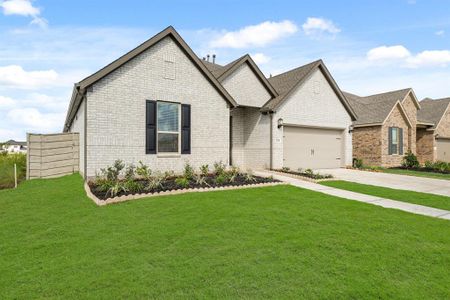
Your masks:
{"label": "narrow concrete walkway crossing the lawn from flower bed to right edge", "polygon": [[403,211],[418,214],[418,215],[424,215],[424,216],[429,216],[429,217],[434,217],[434,218],[450,220],[450,211],[448,211],[448,210],[437,209],[437,208],[432,208],[432,207],[418,205],[418,204],[411,204],[411,203],[407,203],[407,202],[395,201],[395,200],[375,197],[375,196],[371,196],[371,195],[359,194],[359,193],[350,192],[350,191],[346,191],[346,190],[340,190],[340,189],[320,185],[317,183],[304,181],[304,180],[297,179],[294,177],[280,175],[280,174],[269,172],[269,171],[257,171],[257,172],[255,172],[255,175],[265,176],[265,177],[273,176],[273,178],[284,181],[284,182],[288,182],[293,186],[317,191],[320,193],[324,193],[324,194],[328,194],[328,195],[332,195],[332,196],[336,196],[336,197],[340,197],[340,198],[346,198],[346,199],[355,200],[355,201],[359,201],[359,202],[365,202],[365,203],[378,205],[378,206],[382,206],[382,207],[386,207],[386,208],[395,208],[395,209],[403,210]]}

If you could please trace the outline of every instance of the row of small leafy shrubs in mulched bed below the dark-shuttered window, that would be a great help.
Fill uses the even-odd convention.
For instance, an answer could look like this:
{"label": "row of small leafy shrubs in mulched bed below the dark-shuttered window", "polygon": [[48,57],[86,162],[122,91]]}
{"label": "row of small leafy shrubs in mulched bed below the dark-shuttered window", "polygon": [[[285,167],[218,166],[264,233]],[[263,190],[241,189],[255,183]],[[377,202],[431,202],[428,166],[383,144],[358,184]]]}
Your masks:
{"label": "row of small leafy shrubs in mulched bed below the dark-shuttered window", "polygon": [[137,166],[126,166],[121,160],[116,160],[112,166],[101,169],[89,186],[99,199],[107,199],[137,193],[265,182],[276,180],[255,176],[251,170],[244,173],[236,167],[227,168],[222,162],[214,163],[212,170],[203,165],[198,171],[186,163],[182,174],[176,175],[173,171],[154,172],[142,162]]}

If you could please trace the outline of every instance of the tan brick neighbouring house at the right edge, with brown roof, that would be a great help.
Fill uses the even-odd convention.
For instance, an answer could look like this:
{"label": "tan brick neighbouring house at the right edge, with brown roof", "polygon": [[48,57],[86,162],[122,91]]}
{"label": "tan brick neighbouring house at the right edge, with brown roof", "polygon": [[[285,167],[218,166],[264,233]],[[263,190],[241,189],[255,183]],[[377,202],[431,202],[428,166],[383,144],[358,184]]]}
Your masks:
{"label": "tan brick neighbouring house at the right edge, with brown roof", "polygon": [[344,94],[358,115],[354,158],[395,167],[411,151],[421,163],[450,161],[450,98],[419,102],[410,88],[370,96]]}

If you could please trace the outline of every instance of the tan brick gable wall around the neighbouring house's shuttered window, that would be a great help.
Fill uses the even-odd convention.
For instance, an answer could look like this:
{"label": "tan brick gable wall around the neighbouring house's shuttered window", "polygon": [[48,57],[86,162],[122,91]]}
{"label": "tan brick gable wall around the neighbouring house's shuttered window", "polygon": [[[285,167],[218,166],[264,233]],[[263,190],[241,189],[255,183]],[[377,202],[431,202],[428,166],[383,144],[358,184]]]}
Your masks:
{"label": "tan brick gable wall around the neighbouring house's shuttered window", "polygon": [[[382,146],[381,146],[381,166],[396,167],[400,166],[404,155],[393,154],[389,155],[389,127],[403,128],[403,153],[405,154],[410,148],[408,138],[408,123],[402,115],[400,108],[396,106],[389,115],[388,119],[381,127]],[[415,144],[415,142],[414,142]]]}

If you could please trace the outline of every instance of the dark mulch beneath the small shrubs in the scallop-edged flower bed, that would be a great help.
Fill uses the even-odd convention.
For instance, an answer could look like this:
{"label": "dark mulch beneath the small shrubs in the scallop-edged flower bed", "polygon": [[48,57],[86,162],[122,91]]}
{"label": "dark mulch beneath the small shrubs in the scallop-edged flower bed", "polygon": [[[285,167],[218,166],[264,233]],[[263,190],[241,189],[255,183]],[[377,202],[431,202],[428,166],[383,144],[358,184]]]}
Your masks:
{"label": "dark mulch beneath the small shrubs in the scallop-edged flower bed", "polygon": [[[233,182],[225,182],[223,184],[216,184],[215,182],[215,175],[208,175],[206,179],[207,184],[199,185],[196,184],[195,181],[190,181],[189,186],[187,187],[180,187],[175,183],[175,180],[178,177],[171,177],[164,181],[162,184],[162,187],[152,190],[147,190],[145,187],[147,186],[146,180],[136,180],[137,182],[141,183],[144,186],[144,190],[140,192],[120,192],[117,194],[116,197],[120,196],[128,196],[128,195],[136,195],[141,193],[148,193],[148,194],[154,194],[154,193],[160,193],[160,192],[166,192],[166,191],[176,191],[176,190],[184,190],[184,189],[195,189],[195,188],[215,188],[215,187],[228,187],[228,186],[243,186],[243,185],[253,185],[253,184],[260,184],[260,183],[271,183],[271,182],[280,182],[279,180],[273,179],[273,178],[266,178],[266,177],[259,177],[259,176],[253,176],[253,181],[248,181],[246,177],[242,174],[239,174],[236,176],[235,180]],[[98,199],[100,200],[106,200],[111,198],[111,196],[105,192],[99,190],[99,188],[94,184],[94,182],[88,183],[89,188]],[[114,198],[116,198],[114,197]]]}

